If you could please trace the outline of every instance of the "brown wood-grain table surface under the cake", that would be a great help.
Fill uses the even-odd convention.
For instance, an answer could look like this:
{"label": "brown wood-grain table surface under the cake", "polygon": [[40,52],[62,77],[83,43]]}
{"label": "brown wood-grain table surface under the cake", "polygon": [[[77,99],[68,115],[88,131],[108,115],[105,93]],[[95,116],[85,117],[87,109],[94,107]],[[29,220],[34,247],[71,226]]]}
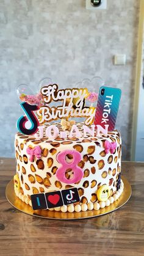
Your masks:
{"label": "brown wood-grain table surface under the cake", "polygon": [[0,255],[144,255],[144,163],[123,162],[131,199],[117,211],[76,221],[21,213],[5,198],[15,159],[0,158]]}

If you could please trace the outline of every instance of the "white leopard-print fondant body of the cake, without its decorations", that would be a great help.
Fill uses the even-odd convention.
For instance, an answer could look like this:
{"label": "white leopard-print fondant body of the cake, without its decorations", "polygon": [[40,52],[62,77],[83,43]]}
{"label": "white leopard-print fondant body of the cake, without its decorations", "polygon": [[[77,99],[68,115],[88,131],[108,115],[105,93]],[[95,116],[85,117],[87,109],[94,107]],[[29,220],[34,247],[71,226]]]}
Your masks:
{"label": "white leopard-print fondant body of the cake, without its decorations", "polygon": [[[49,123],[52,125],[52,123]],[[59,130],[62,130],[60,123],[54,123]],[[77,123],[77,128],[82,133],[82,125]],[[116,142],[117,148],[113,153],[106,153],[104,150],[105,141]],[[40,146],[40,158],[30,161],[27,154],[27,147],[34,148]],[[76,150],[81,154],[81,161],[77,164],[83,170],[83,177],[77,183],[63,183],[58,180],[56,172],[60,167],[57,161],[57,154],[63,150]],[[115,130],[108,133],[108,136],[101,135],[80,137],[67,137],[62,139],[49,140],[35,139],[34,136],[26,136],[17,133],[15,136],[15,156],[16,156],[16,177],[15,194],[23,202],[32,206],[31,195],[47,193],[52,191],[62,191],[64,189],[77,188],[79,202],[60,207],[49,208],[62,212],[99,210],[108,207],[110,203],[117,200],[123,192],[123,181],[120,181],[121,174],[121,136]],[[71,155],[68,155],[71,161]],[[73,170],[68,169],[65,177],[71,180]],[[108,188],[106,200],[99,200],[101,188]],[[100,189],[100,190],[99,190]],[[105,192],[105,191],[104,191]],[[104,195],[103,195],[104,196]],[[105,195],[106,196],[106,195]]]}

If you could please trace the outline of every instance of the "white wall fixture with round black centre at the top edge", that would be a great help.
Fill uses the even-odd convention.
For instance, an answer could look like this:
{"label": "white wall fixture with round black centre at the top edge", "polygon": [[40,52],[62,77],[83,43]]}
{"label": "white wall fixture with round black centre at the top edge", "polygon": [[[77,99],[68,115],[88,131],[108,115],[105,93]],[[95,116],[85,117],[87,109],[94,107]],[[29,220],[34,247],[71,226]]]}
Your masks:
{"label": "white wall fixture with round black centre at the top edge", "polygon": [[[107,9],[107,0],[85,0],[86,9],[88,10],[98,10]],[[98,5],[95,5],[98,4]]]}

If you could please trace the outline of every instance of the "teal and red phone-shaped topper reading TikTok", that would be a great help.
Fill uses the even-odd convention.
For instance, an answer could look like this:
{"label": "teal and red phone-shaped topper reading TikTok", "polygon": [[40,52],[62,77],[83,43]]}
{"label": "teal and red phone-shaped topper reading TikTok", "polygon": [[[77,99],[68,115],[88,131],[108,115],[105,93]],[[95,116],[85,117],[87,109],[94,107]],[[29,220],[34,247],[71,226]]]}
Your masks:
{"label": "teal and red phone-shaped topper reading TikTok", "polygon": [[105,128],[104,125],[109,125],[109,131],[115,129],[120,98],[121,89],[106,86],[99,88],[95,125],[101,125],[103,128]]}

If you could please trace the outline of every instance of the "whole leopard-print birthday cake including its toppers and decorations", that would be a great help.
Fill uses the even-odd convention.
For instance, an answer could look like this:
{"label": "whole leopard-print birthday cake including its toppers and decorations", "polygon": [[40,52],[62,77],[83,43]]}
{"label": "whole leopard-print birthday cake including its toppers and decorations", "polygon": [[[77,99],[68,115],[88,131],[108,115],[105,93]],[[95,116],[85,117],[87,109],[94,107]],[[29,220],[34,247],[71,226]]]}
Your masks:
{"label": "whole leopard-print birthday cake including its toppers and decorations", "polygon": [[[105,93],[106,88],[110,87],[105,87]],[[115,90],[108,96],[107,106]],[[123,192],[120,132],[109,130],[111,123],[96,123],[100,97],[96,108],[85,106],[85,99],[94,102],[96,93],[70,89],[69,94],[61,90],[58,97],[56,92],[54,84],[43,86],[37,97],[20,93],[25,115],[17,122],[15,136],[15,194],[33,210],[79,212],[109,207]],[[50,107],[52,100],[65,104]],[[77,116],[85,117],[86,122],[68,120]],[[28,120],[31,128],[26,126]]]}

